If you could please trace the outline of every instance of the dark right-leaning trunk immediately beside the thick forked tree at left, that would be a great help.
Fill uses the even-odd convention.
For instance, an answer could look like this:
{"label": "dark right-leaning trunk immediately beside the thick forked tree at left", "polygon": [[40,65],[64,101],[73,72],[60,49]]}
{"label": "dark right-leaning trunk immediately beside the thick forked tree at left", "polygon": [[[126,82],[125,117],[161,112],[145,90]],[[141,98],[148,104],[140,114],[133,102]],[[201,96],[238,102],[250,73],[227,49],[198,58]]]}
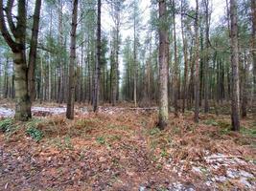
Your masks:
{"label": "dark right-leaning trunk immediately beside the thick forked tree at left", "polygon": [[35,62],[36,62],[36,50],[37,50],[37,39],[38,39],[38,29],[39,29],[39,18],[41,10],[41,0],[35,1],[35,12],[33,20],[33,29],[31,37],[31,49],[29,54],[29,93],[31,101],[35,100]]}

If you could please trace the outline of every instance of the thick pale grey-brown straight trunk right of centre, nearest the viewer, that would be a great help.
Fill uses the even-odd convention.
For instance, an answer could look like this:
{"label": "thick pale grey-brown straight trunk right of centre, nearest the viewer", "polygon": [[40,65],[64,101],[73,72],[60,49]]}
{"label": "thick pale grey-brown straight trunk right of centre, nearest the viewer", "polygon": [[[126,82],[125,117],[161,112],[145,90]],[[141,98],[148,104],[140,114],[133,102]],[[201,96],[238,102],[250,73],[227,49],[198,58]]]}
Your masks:
{"label": "thick pale grey-brown straight trunk right of centre, nearest the viewer", "polygon": [[168,123],[168,29],[166,0],[159,1],[159,128],[164,129]]}

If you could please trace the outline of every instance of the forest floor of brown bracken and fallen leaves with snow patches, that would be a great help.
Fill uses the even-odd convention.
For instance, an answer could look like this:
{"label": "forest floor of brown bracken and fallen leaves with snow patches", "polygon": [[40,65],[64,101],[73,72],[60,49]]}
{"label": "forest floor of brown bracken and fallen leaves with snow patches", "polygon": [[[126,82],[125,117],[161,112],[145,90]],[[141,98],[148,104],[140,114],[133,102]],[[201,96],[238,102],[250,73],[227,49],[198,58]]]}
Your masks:
{"label": "forest floor of brown bracken and fallen leaves with snow patches", "polygon": [[68,120],[44,104],[29,122],[13,121],[12,108],[0,103],[0,190],[256,190],[251,115],[241,133],[229,116],[195,124],[192,112],[159,131],[155,108],[77,106]]}

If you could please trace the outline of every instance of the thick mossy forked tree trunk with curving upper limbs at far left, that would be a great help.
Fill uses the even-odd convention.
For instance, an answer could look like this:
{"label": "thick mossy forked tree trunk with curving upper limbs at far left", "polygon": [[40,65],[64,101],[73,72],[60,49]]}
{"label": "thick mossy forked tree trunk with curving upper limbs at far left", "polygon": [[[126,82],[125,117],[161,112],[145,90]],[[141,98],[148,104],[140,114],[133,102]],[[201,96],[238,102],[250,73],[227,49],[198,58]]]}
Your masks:
{"label": "thick mossy forked tree trunk with curving upper limbs at far left", "polygon": [[[12,5],[11,5],[12,7]],[[6,26],[6,19],[3,12],[3,0],[0,0],[0,31],[7,44],[12,49],[13,62],[14,62],[14,86],[15,86],[15,119],[28,120],[31,115],[31,101],[28,92],[28,68],[26,63],[26,24],[27,24],[27,11],[26,1],[18,1],[17,7],[17,22],[16,26],[9,26],[11,33]],[[11,9],[12,14],[12,9]],[[8,23],[13,24],[12,16],[9,17]],[[12,25],[11,24],[11,25]],[[14,28],[14,29],[13,29]]]}

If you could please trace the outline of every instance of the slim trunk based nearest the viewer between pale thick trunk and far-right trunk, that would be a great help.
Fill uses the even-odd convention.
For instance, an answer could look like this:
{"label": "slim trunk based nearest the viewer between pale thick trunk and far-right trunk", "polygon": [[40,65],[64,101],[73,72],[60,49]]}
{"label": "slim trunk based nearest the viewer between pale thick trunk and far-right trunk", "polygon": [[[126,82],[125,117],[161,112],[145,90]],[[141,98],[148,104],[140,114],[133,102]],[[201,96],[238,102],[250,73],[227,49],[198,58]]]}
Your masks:
{"label": "slim trunk based nearest the viewer between pale thick trunk and far-right trunk", "polygon": [[197,10],[196,10],[196,19],[195,19],[195,122],[198,122],[199,119],[199,37],[198,37],[198,0],[196,0]]}

